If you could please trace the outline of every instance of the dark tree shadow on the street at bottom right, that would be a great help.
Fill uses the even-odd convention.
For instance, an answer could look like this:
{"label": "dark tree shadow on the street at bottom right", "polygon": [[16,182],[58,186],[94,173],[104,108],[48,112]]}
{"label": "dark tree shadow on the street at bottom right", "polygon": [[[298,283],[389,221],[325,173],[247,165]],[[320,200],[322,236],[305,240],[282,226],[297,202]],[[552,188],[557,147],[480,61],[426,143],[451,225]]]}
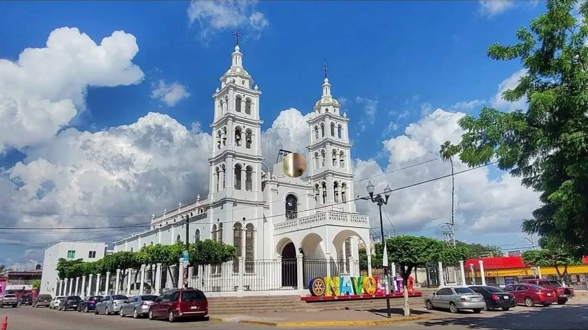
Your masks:
{"label": "dark tree shadow on the street at bottom right", "polygon": [[[422,326],[464,326],[468,329],[536,330],[536,329],[588,329],[588,305],[536,307],[530,310],[511,309],[508,312],[483,312],[483,316],[440,318],[421,321]],[[496,313],[496,315],[492,315]],[[488,315],[490,314],[490,315]],[[473,314],[472,314],[473,315]]]}

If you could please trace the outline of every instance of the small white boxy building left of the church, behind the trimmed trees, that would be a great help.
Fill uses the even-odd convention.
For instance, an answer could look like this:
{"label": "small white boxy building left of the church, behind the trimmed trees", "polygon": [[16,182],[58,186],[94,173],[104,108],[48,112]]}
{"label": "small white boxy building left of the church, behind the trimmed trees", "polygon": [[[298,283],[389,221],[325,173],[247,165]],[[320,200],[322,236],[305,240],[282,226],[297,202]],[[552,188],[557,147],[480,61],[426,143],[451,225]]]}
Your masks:
{"label": "small white boxy building left of the church, behind the trimmed trees", "polygon": [[[55,243],[45,249],[43,258],[43,272],[41,275],[41,294],[55,295],[55,285],[57,280],[57,262],[59,258],[68,258],[68,251],[75,251],[75,257],[71,258],[82,259],[83,261],[96,261],[104,257],[106,252],[106,244],[99,242],[76,242],[63,241]],[[89,258],[89,252],[95,251],[96,256]]]}

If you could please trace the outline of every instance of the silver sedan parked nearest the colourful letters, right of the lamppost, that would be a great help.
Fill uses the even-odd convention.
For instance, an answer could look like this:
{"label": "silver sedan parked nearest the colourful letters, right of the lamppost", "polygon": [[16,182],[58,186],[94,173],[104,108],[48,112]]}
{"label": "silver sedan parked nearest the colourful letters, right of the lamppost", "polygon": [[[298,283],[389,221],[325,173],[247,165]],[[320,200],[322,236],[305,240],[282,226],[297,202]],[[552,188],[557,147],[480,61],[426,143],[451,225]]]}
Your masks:
{"label": "silver sedan parked nearest the colourful letters, right of the lamppost", "polygon": [[486,302],[481,294],[468,287],[445,287],[425,297],[425,307],[449,309],[452,313],[457,313],[461,309],[472,309],[473,312],[479,313],[486,307]]}

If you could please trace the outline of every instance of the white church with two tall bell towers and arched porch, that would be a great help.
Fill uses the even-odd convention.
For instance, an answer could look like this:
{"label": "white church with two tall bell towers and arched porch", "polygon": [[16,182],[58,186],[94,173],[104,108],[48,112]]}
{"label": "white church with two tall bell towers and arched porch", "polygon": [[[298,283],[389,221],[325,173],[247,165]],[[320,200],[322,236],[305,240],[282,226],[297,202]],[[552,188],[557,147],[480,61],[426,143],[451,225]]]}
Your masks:
{"label": "white church with two tall bell towers and arched porch", "polygon": [[359,275],[358,247],[369,244],[369,218],[356,212],[349,118],[331,95],[326,71],[308,120],[302,177],[286,176],[281,162],[263,165],[261,95],[236,45],[213,94],[208,196],[153,215],[150,230],[113,243],[115,251],[185,242],[188,221],[190,243],[222,241],[239,256],[226,265],[189,268],[190,281],[206,291],[300,289],[315,276]]}

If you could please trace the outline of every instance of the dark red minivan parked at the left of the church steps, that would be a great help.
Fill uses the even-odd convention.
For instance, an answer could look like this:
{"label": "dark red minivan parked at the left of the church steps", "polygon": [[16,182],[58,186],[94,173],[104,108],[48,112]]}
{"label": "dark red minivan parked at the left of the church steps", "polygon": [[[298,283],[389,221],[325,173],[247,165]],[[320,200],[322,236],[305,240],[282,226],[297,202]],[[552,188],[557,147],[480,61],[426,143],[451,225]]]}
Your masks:
{"label": "dark red minivan parked at the left of the church steps", "polygon": [[163,292],[149,307],[149,319],[208,318],[208,300],[199,289],[182,288]]}

